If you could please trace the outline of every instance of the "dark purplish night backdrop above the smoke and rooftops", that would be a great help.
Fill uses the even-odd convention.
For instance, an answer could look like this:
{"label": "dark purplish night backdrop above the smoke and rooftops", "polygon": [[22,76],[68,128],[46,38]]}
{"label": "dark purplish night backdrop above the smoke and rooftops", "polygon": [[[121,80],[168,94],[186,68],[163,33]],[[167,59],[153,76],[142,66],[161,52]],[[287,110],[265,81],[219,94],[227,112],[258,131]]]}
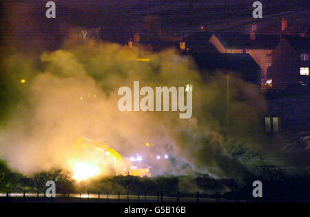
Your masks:
{"label": "dark purplish night backdrop above the smoke and rooftops", "polygon": [[[156,20],[152,30],[167,36],[185,37],[204,25],[206,30],[238,30],[247,32],[247,25],[253,22],[252,1],[68,1],[57,0],[56,19],[45,17],[47,1],[14,1],[3,3],[3,43],[30,49],[30,45],[42,49],[54,49],[72,28],[101,28],[101,37],[108,41],[125,43],[134,32],[147,28],[145,17]],[[191,3],[192,2],[192,3]],[[291,13],[291,23],[305,20],[309,12],[307,1],[262,1],[263,16],[276,17],[265,21],[280,23],[281,13]],[[306,10],[307,11],[307,10]],[[280,14],[280,15],[279,15]],[[279,17],[280,16],[280,17]],[[155,17],[155,18],[154,18]],[[237,21],[244,21],[242,28],[236,28]],[[307,21],[309,22],[309,21]],[[154,24],[154,23],[153,23]],[[150,25],[153,25],[152,23]],[[232,25],[232,27],[231,27]],[[280,24],[279,24],[280,25]],[[309,25],[309,23],[307,23]],[[159,30],[159,28],[161,28]],[[274,33],[265,28],[262,33]]]}

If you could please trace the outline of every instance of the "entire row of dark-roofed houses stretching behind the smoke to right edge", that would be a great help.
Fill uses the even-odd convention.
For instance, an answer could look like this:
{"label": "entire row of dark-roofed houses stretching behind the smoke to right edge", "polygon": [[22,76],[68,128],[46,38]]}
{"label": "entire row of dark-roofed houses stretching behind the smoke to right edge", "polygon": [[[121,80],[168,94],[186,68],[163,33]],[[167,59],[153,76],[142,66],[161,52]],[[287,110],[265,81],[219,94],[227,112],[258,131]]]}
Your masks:
{"label": "entire row of dark-roofed houses stretching behind the smoke to right edge", "polygon": [[[282,28],[287,28],[287,25],[282,23]],[[245,80],[258,83],[262,89],[308,85],[310,40],[306,33],[256,34],[255,23],[251,29],[250,34],[195,32],[182,41],[149,41],[136,33],[124,45],[121,53],[132,50],[127,58],[146,60],[149,56],[138,56],[136,53],[135,48],[139,45],[154,52],[172,47],[179,50],[180,54],[191,55],[202,72],[233,70],[242,73]]]}

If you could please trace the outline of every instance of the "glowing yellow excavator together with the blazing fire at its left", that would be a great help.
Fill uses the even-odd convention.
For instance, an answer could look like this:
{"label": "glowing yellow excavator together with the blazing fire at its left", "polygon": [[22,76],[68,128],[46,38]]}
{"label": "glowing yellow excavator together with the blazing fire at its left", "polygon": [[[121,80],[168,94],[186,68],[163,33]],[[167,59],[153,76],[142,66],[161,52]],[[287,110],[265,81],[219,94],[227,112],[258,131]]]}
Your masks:
{"label": "glowing yellow excavator together with the blazing fire at its left", "polygon": [[132,165],[142,158],[122,158],[116,150],[88,138],[79,138],[74,150],[70,167],[73,170],[72,178],[78,181],[101,174],[151,176],[149,167]]}

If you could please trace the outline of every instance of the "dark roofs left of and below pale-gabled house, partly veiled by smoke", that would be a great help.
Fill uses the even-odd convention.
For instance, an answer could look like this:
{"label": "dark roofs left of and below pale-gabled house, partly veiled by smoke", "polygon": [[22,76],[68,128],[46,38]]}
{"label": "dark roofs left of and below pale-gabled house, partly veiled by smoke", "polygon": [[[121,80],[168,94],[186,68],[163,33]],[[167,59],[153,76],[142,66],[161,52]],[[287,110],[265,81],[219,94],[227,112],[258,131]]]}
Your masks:
{"label": "dark roofs left of and below pale-gabled house, partly veiled by smoke", "polygon": [[[174,48],[180,55],[190,56],[194,59],[202,74],[210,74],[216,72],[216,70],[234,71],[242,74],[243,79],[247,81],[260,82],[260,66],[249,54],[220,53],[216,51],[216,48],[214,48],[214,52],[197,52],[194,49],[189,52],[189,43],[187,41],[144,41],[141,38],[143,37],[140,34],[134,34],[133,39],[123,45],[118,57],[127,61],[152,61],[156,56],[156,52]],[[141,54],[139,52],[141,46],[151,50],[153,54],[150,54],[151,56],[145,56],[145,52]]]}

